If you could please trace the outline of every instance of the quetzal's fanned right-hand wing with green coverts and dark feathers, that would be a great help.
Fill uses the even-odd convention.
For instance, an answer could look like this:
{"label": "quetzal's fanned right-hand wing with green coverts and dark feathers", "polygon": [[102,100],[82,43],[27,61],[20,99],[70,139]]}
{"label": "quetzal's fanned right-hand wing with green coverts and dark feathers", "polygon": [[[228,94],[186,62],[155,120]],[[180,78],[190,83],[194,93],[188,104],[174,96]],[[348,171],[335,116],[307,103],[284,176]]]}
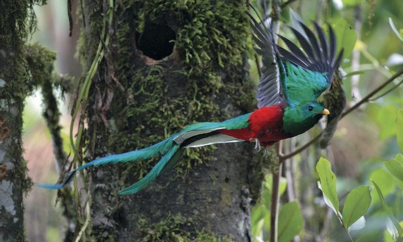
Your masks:
{"label": "quetzal's fanned right-hand wing with green coverts and dark feathers", "polygon": [[[291,100],[299,98],[300,100],[298,101],[313,101],[312,99],[315,100],[330,86],[333,73],[340,65],[343,50],[336,56],[336,36],[330,25],[328,25],[328,39],[317,23],[314,22],[317,37],[305,24],[302,22],[299,22],[299,24],[305,34],[292,27],[289,28],[300,43],[302,50],[281,35],[279,37],[286,43],[289,51],[281,46],[277,46],[277,48],[281,54],[281,60],[286,63],[288,88],[291,89],[292,86],[293,89],[292,91],[289,90],[288,93]],[[301,92],[311,97],[303,100],[300,95]],[[299,97],[296,97],[297,95]]]}

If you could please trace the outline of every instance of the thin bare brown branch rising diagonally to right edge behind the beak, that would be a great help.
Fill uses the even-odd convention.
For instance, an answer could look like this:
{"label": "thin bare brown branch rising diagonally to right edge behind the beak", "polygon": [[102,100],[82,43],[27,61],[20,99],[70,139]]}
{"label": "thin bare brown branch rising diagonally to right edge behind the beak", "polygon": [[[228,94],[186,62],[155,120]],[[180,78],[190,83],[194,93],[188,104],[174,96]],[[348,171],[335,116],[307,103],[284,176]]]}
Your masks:
{"label": "thin bare brown branch rising diagonally to right edge behind the beak", "polygon": [[[399,76],[401,76],[403,74],[403,68],[400,69],[398,72],[395,73],[395,75],[393,75],[391,78],[389,78],[386,82],[382,83],[379,87],[377,87],[376,89],[374,89],[374,91],[371,91],[368,95],[366,95],[363,99],[361,99],[361,101],[357,102],[354,106],[352,106],[351,108],[347,109],[341,116],[340,119],[342,119],[343,117],[345,117],[347,114],[349,114],[350,112],[354,111],[355,109],[357,109],[361,104],[370,101],[370,98],[376,94],[378,91],[380,91],[381,89],[383,89],[386,85],[388,85],[389,83],[393,82],[396,78],[398,78]],[[399,83],[399,85],[402,84],[402,82]],[[319,137],[322,135],[321,131],[317,136],[315,136],[315,138],[313,138],[311,141],[309,141],[308,143],[306,143],[305,145],[301,146],[300,148],[298,148],[297,150],[286,154],[286,155],[280,155],[279,154],[279,159],[280,159],[280,163],[283,162],[284,160],[298,154],[299,152],[305,150],[306,148],[308,148],[310,145],[312,145],[313,143],[315,143]]]}

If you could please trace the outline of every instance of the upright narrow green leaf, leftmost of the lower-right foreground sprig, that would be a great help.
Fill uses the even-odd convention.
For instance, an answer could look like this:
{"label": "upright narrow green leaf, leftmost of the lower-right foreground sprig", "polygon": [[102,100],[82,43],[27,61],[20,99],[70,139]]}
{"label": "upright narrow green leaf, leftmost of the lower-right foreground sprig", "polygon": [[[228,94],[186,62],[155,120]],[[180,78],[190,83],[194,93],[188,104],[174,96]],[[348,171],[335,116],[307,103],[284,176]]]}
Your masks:
{"label": "upright narrow green leaf, leftmost of the lower-right foreground sprig", "polygon": [[[330,169],[330,163],[328,160],[320,157],[316,165],[317,174],[320,179],[320,187],[323,194],[327,197],[331,203],[333,211],[339,216],[339,199],[336,192],[336,176]],[[329,205],[329,204],[328,204]]]}

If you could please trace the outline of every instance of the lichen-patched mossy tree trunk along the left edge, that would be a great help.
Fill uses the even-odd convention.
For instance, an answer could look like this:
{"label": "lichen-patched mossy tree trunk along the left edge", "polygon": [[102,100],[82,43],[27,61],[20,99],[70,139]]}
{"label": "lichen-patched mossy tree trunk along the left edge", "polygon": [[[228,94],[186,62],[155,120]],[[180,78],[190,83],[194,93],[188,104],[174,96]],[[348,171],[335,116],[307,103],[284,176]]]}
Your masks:
{"label": "lichen-patched mossy tree trunk along the left edge", "polygon": [[0,241],[24,241],[23,193],[32,186],[22,157],[22,113],[29,93],[24,42],[33,2],[0,3]]}

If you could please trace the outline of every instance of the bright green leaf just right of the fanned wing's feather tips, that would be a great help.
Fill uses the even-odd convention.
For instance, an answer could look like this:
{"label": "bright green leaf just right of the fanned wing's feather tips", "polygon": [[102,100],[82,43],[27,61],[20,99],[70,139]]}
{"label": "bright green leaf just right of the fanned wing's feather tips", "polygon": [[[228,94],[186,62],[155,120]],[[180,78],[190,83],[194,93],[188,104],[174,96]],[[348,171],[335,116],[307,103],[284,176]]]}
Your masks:
{"label": "bright green leaf just right of the fanned wing's feather tips", "polygon": [[344,48],[343,59],[349,58],[357,41],[357,32],[342,18],[339,18],[332,27],[336,34],[337,53]]}

